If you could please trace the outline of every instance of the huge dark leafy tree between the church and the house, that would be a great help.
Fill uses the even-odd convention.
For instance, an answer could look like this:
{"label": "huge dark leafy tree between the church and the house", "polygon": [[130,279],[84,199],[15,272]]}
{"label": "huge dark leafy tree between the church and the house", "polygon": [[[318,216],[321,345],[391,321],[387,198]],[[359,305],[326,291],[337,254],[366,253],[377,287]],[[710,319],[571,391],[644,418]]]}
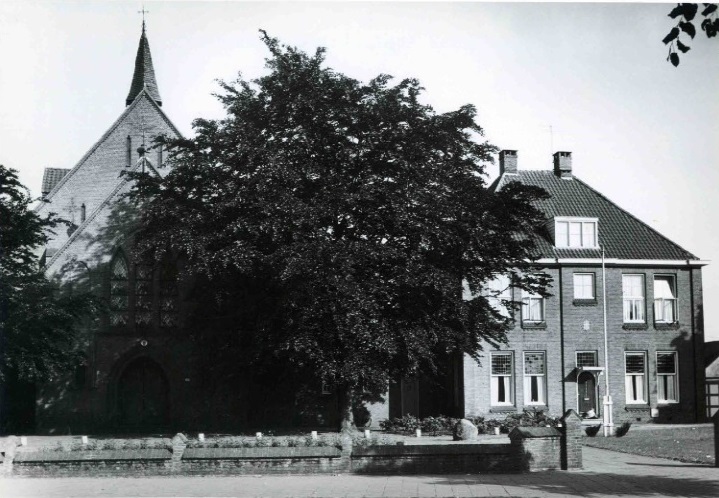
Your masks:
{"label": "huge dark leafy tree between the church and the house", "polygon": [[484,296],[463,299],[462,282],[477,295],[511,272],[542,288],[525,270],[544,194],[487,189],[496,148],[471,105],[436,113],[416,80],[361,83],[326,67],[323,49],[262,40],[268,74],[221,83],[226,117],[166,141],[163,178],[133,175],[137,247],[180,252],[206,282],[198,294],[232,314],[212,328],[234,327],[257,364],[335,385],[347,428],[357,393],[504,340],[503,316]]}

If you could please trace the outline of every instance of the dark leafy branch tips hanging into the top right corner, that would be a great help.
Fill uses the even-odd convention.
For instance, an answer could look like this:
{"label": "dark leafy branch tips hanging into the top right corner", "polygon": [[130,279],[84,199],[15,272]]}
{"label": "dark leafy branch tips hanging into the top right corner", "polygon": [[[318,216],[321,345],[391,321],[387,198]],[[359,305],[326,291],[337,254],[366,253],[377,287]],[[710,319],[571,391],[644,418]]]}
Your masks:
{"label": "dark leafy branch tips hanging into the top right corner", "polygon": [[[665,45],[669,45],[669,55],[667,55],[667,60],[671,62],[674,67],[679,65],[679,53],[677,50],[683,54],[686,54],[689,50],[691,50],[691,47],[687,45],[686,37],[693,40],[697,34],[694,21],[698,12],[699,4],[678,3],[677,6],[674,7],[668,14],[672,19],[677,20],[677,24],[669,31],[662,42]],[[701,16],[704,18],[700,23],[701,30],[704,31],[707,38],[714,38],[717,35],[717,32],[719,32],[717,4],[702,4]],[[699,22],[699,20],[697,19],[696,22]],[[684,42],[682,42],[681,37],[685,38]]]}

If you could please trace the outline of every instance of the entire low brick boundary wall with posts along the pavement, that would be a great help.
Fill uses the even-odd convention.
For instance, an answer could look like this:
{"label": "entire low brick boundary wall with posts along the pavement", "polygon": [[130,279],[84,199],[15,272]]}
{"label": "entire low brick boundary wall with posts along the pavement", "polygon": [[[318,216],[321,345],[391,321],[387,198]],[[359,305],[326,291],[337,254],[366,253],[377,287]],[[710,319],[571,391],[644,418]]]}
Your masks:
{"label": "entire low brick boundary wall with posts along the pavement", "polygon": [[516,428],[507,443],[352,447],[187,448],[172,451],[16,452],[2,455],[2,474],[17,477],[140,477],[242,474],[475,474],[581,468],[581,420],[567,412],[560,429]]}

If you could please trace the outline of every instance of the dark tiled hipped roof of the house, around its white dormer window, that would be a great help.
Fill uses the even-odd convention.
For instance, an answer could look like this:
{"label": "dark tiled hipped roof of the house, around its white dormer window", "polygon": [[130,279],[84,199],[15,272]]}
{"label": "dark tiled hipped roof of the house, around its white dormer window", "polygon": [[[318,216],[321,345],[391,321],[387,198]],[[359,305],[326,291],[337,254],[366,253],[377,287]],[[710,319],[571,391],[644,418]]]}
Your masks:
{"label": "dark tiled hipped roof of the house, around its white dormer window", "polygon": [[[555,216],[598,218],[599,244],[607,258],[698,259],[577,177],[562,179],[553,171],[518,171],[516,175],[502,175],[492,188],[501,189],[511,181],[541,187],[549,193],[549,199],[537,204],[547,219]],[[549,235],[538,241],[538,248],[543,258],[601,258],[598,249],[555,248]]]}

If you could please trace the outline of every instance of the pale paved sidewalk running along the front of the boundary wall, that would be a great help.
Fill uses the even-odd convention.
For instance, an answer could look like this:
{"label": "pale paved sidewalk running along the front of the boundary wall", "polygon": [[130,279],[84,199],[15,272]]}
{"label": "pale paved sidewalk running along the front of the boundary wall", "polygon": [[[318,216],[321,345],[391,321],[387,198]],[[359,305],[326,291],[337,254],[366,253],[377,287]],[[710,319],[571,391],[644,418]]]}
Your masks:
{"label": "pale paved sidewalk running along the front of the boundary wall", "polygon": [[719,497],[719,469],[584,448],[584,470],[441,476],[0,479],[20,497]]}

